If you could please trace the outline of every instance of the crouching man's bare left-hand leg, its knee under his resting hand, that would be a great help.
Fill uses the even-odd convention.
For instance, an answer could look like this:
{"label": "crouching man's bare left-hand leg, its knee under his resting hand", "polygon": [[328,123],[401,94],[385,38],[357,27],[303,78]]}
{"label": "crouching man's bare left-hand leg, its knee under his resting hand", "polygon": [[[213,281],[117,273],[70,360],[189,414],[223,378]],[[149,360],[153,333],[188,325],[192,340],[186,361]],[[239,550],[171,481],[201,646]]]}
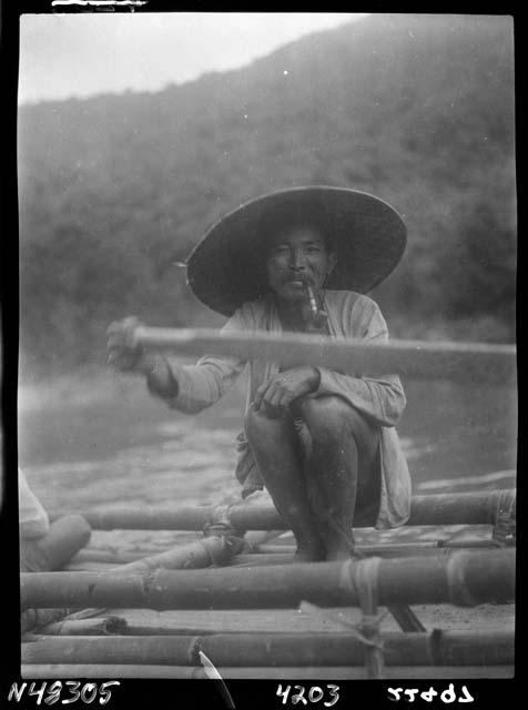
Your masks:
{"label": "crouching man's bare left-hand leg, its knee under his resting hand", "polygon": [[250,409],[244,425],[273,503],[295,535],[297,558],[305,561],[324,559],[325,548],[309,509],[292,416],[286,413],[282,417],[270,418],[261,410]]}

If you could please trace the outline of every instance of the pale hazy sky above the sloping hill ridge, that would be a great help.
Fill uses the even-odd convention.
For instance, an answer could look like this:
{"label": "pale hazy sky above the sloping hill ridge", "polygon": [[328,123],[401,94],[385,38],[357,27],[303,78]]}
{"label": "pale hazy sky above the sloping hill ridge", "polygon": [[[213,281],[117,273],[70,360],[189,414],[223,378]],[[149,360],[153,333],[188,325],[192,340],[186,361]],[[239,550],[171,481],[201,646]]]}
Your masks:
{"label": "pale hazy sky above the sloping hill ridge", "polygon": [[26,14],[20,24],[21,103],[94,93],[158,91],[206,71],[247,64],[349,13]]}

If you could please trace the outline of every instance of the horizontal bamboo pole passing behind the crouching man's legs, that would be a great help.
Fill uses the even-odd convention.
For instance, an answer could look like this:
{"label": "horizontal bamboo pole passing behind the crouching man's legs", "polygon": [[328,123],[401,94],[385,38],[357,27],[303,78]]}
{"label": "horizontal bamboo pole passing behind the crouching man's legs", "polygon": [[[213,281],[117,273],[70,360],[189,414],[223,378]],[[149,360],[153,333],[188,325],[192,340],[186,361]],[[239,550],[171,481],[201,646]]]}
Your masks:
{"label": "horizontal bamboo pole passing behind the crouching man's legs", "polygon": [[[413,496],[406,525],[495,525],[500,509],[515,510],[516,490]],[[203,530],[217,520],[219,508],[225,520],[241,530],[286,530],[287,525],[273,506],[156,506],[114,508],[82,513],[93,529]],[[370,527],[355,521],[355,527]]]}

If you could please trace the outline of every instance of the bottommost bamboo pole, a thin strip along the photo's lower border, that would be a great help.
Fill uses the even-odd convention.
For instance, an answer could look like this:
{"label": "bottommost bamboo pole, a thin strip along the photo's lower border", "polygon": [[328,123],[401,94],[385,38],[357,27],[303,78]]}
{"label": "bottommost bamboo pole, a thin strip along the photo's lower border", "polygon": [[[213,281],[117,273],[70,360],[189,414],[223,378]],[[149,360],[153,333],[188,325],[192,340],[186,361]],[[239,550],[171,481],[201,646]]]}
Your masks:
{"label": "bottommost bamboo pole, a thin strip along the photo's lower border", "polygon": [[[366,680],[364,668],[348,666],[308,666],[308,667],[221,667],[219,672],[224,679],[264,678],[284,680]],[[408,678],[454,679],[454,678],[512,678],[512,666],[389,666],[384,670],[385,679]],[[22,663],[22,678],[141,678],[141,679],[190,679],[206,678],[202,666],[153,666],[132,663]]]}

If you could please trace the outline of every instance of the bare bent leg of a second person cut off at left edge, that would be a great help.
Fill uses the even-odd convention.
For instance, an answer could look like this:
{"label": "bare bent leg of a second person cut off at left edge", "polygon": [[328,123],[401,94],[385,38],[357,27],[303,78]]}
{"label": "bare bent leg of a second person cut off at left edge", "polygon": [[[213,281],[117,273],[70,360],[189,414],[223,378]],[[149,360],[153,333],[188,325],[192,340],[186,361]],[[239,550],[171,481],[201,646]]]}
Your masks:
{"label": "bare bent leg of a second person cut off at left edge", "polygon": [[35,540],[20,541],[21,571],[52,571],[65,565],[90,539],[91,528],[81,515],[54,520]]}

